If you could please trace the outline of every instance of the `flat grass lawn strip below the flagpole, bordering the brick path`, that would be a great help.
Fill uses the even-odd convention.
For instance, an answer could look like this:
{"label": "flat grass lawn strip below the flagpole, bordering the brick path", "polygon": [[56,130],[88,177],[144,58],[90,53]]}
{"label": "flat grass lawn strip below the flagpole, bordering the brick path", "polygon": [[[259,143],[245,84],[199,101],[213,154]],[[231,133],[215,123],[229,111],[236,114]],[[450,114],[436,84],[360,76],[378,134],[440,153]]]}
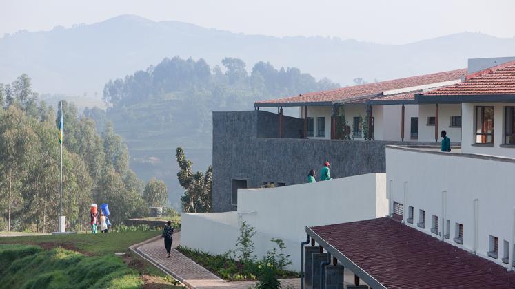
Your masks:
{"label": "flat grass lawn strip below the flagpole, bordering the brick path", "polygon": [[172,285],[174,283],[172,278],[128,248],[160,234],[160,231],[129,231],[107,234],[0,237],[0,244],[33,244],[49,250],[62,247],[87,256],[115,256],[114,253],[125,253],[115,257],[122,259],[130,268],[139,272],[143,279],[143,288],[179,288]]}

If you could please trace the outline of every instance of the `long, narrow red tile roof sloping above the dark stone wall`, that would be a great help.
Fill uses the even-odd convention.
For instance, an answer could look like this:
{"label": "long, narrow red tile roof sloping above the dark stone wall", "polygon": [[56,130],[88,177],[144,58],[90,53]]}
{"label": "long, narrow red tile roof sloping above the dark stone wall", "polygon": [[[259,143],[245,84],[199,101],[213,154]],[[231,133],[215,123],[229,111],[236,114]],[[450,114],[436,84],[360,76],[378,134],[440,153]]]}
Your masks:
{"label": "long, narrow red tile roof sloping above the dark stone wall", "polygon": [[381,94],[384,91],[392,89],[428,85],[431,83],[441,83],[444,81],[454,81],[461,78],[461,76],[466,73],[467,69],[457,69],[448,72],[438,72],[434,74],[399,78],[392,81],[381,81],[378,83],[367,83],[365,85],[354,85],[339,89],[326,90],[323,92],[309,92],[307,94],[300,94],[299,96],[290,96],[272,100],[261,100],[257,101],[255,105],[259,107],[260,105],[339,102],[345,99],[359,96],[375,96],[376,94]]}

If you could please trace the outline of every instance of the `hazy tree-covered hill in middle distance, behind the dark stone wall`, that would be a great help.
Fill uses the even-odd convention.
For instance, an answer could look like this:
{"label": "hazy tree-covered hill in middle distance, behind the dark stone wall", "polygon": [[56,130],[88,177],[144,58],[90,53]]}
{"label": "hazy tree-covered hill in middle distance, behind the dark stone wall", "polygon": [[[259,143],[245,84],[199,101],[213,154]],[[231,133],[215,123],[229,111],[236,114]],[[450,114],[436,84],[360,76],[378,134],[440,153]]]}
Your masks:
{"label": "hazy tree-covered hill in middle distance, behind the dark stone wall", "polygon": [[[156,66],[110,80],[103,89],[107,116],[86,109],[101,124],[105,118],[128,144],[132,169],[148,180],[165,180],[171,200],[179,204],[176,147],[183,147],[194,169],[211,164],[212,111],[253,109],[256,100],[339,87],[296,68],[276,69],[256,63],[250,74],[240,59],[224,58],[223,67],[203,59],[165,58]],[[99,127],[99,129],[103,129]]]}

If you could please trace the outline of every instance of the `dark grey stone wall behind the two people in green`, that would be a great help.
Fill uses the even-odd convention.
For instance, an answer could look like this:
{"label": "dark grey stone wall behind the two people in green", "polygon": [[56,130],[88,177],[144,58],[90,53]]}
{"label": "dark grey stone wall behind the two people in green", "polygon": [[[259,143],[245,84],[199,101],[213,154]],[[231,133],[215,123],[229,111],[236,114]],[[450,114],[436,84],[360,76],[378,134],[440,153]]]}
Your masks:
{"label": "dark grey stone wall behind the two people in green", "polygon": [[[266,111],[213,113],[213,209],[234,211],[232,179],[246,180],[248,187],[263,182],[286,185],[306,181],[310,169],[316,180],[325,160],[332,178],[385,171],[385,146],[406,142],[314,140],[277,138],[279,120]],[[245,123],[242,123],[245,122]],[[285,118],[285,136],[299,136],[303,120]],[[260,137],[257,137],[260,136]],[[263,137],[265,136],[265,137]]]}

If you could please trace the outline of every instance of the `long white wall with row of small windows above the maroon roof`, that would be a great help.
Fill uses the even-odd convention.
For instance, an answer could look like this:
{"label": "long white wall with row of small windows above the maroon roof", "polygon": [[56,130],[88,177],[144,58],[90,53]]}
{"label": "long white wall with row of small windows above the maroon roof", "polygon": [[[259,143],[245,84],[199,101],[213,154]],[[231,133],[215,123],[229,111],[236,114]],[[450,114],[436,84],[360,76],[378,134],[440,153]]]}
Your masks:
{"label": "long white wall with row of small windows above the maroon roof", "polygon": [[[416,150],[386,149],[386,174],[392,202],[414,207],[414,228],[429,235],[432,215],[438,215],[441,232],[443,219],[450,220],[450,244],[474,249],[474,200],[478,199],[478,255],[487,256],[489,235],[499,238],[501,264],[503,241],[509,241],[509,254],[513,254],[512,230],[514,225],[515,164],[496,160],[470,158],[454,153],[421,153]],[[392,186],[390,187],[390,180]],[[407,202],[404,183],[407,182]],[[442,217],[442,191],[447,191],[446,217]],[[418,228],[418,210],[425,210],[425,229]],[[453,238],[455,223],[463,224],[463,246]]]}

